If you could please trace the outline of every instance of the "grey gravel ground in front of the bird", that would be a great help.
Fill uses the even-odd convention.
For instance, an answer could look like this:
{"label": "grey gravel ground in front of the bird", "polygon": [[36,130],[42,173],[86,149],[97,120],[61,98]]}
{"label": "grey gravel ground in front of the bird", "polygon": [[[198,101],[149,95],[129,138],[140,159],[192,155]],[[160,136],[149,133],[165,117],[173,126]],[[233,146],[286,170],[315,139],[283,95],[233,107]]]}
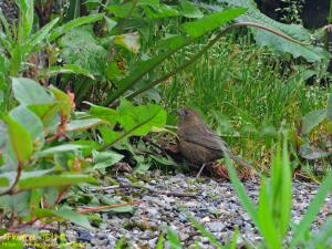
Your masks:
{"label": "grey gravel ground in front of the bird", "polygon": [[[118,177],[118,183],[131,184],[126,177]],[[199,183],[198,183],[199,181]],[[86,248],[114,248],[117,239],[127,238],[129,248],[154,248],[160,230],[170,227],[178,232],[185,248],[194,248],[198,240],[199,248],[214,248],[207,238],[203,237],[186,220],[183,208],[194,215],[221,242],[229,241],[234,228],[239,227],[238,242],[249,241],[257,245],[260,240],[253,228],[249,215],[239,204],[237,195],[228,181],[217,181],[211,178],[196,180],[194,177],[181,174],[165,176],[155,174],[148,183],[141,183],[159,191],[139,191],[135,188],[121,188],[96,191],[95,195],[112,196],[114,191],[135,196],[142,204],[131,214],[102,212],[102,224],[94,231],[86,231],[72,224],[62,227],[68,240],[86,243]],[[257,201],[259,183],[255,179],[246,181],[245,187],[250,198]],[[293,181],[292,218],[299,222],[310,200],[318,193],[319,186],[314,183]],[[193,196],[167,196],[166,193],[197,193]],[[332,198],[326,198],[312,230],[317,231],[331,211]]]}

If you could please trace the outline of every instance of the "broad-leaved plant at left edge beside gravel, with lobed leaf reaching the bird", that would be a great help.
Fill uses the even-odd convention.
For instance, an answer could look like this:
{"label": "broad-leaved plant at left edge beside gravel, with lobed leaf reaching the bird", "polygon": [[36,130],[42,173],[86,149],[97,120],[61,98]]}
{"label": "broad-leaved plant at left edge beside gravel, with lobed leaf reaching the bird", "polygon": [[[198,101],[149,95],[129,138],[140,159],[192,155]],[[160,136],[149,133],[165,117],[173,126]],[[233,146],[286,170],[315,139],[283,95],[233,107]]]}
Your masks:
{"label": "broad-leaved plant at left edge beside gravel, with lobed leaf reaching the bird", "polygon": [[[87,174],[93,165],[106,168],[123,158],[104,149],[163,128],[165,111],[122,101],[117,110],[94,105],[89,113],[79,114],[72,113],[72,96],[54,86],[44,89],[30,79],[13,77],[12,87],[19,106],[0,116],[2,134],[7,134],[0,142],[1,208],[27,224],[55,218],[90,228],[85,216],[58,206],[64,193],[71,185],[96,184]],[[114,131],[116,123],[123,131]],[[87,129],[100,129],[102,143],[94,143]]]}

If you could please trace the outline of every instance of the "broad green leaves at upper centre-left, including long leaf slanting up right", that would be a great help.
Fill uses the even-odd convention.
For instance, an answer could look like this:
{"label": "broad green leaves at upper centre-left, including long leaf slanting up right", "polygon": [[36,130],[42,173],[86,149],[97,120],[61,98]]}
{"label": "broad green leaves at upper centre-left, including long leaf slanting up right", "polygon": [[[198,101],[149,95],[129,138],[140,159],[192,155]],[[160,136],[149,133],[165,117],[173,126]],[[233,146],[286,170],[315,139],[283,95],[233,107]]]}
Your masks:
{"label": "broad green leaves at upper centre-left, including long leaf slanting up right", "polygon": [[[91,11],[96,8],[92,6]],[[104,7],[104,11],[106,15],[101,24],[105,32],[102,35],[93,34],[93,27],[89,27],[73,30],[60,41],[60,56],[68,63],[79,64],[96,77],[96,81],[83,80],[75,84],[77,100],[86,98],[91,89],[95,94],[89,93],[90,101],[102,102],[103,105],[118,101],[118,97],[128,95],[132,90],[135,92],[129,97],[154,87],[163,76],[148,79],[152,81],[148,85],[138,83],[154,75],[158,65],[197,38],[243,13],[242,9],[229,9],[201,18],[200,10],[190,2],[173,7],[158,1],[112,2]],[[201,19],[183,23],[184,34],[178,34],[177,30],[168,37],[153,35],[154,29],[151,27],[160,20],[181,15]],[[193,34],[190,30],[198,33]],[[149,50],[141,51],[141,46],[147,42],[152,44]],[[105,95],[101,89],[107,89],[111,94]]]}

